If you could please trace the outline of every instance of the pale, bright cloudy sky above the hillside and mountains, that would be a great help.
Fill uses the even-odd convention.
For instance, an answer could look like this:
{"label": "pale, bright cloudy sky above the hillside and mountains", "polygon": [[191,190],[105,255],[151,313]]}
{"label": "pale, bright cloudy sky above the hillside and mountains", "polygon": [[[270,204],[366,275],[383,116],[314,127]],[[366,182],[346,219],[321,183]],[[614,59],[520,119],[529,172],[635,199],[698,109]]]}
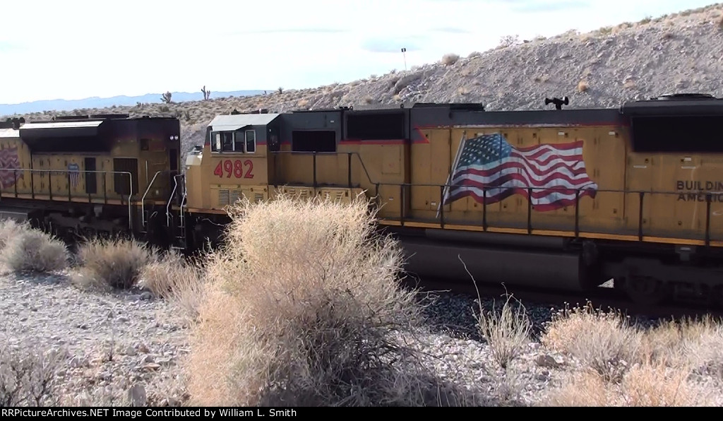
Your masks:
{"label": "pale, bright cloudy sky above the hillside and mountains", "polygon": [[[314,88],[715,0],[25,0],[3,4],[0,103]],[[213,95],[213,94],[212,94]]]}

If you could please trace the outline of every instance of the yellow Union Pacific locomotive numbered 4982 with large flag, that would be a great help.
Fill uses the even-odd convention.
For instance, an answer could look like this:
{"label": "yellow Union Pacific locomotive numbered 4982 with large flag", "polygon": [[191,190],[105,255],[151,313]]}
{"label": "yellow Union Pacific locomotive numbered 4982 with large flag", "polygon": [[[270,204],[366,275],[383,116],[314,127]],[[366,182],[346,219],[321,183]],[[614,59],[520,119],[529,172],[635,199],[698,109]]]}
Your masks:
{"label": "yellow Union Pacific locomotive numbered 4982 with large flag", "polygon": [[[479,104],[232,114],[187,161],[190,241],[224,208],[278,192],[365,192],[408,270],[552,289],[610,278],[637,299],[723,299],[723,101],[664,95],[620,109]],[[214,217],[214,215],[216,215]]]}

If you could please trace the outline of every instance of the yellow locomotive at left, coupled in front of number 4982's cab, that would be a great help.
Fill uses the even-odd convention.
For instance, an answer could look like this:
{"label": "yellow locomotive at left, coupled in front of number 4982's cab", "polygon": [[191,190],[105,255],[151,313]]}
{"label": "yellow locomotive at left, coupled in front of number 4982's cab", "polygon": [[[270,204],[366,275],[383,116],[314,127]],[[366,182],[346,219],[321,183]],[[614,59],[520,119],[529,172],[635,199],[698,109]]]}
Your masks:
{"label": "yellow locomotive at left, coupled in front of number 4982's cab", "polygon": [[163,231],[180,135],[178,119],[128,114],[4,122],[0,216],[63,237]]}

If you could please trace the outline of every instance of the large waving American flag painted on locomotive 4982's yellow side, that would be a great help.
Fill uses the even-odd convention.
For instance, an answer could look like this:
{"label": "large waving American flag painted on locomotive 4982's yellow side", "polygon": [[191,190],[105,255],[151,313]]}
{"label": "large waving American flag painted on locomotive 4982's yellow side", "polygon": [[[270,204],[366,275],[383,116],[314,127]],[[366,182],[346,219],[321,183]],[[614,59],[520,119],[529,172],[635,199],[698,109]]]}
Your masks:
{"label": "large waving American flag painted on locomotive 4982's yellow side", "polygon": [[[536,211],[553,211],[575,204],[580,197],[595,197],[597,184],[583,161],[583,141],[515,148],[500,133],[463,139],[445,192],[444,204],[473,197],[487,204],[518,194],[529,196]],[[529,197],[528,197],[529,198]]]}

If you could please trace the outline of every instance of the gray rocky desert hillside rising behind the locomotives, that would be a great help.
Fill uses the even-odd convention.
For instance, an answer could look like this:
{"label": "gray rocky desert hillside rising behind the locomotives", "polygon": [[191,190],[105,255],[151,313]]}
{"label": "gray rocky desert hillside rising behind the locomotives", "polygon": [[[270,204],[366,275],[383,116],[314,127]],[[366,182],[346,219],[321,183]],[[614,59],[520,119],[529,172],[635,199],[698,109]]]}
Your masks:
{"label": "gray rocky desert hillside rising behind the locomotives", "polygon": [[346,84],[303,90],[279,88],[267,95],[210,98],[181,103],[144,103],[111,109],[46,111],[55,114],[123,112],[179,116],[184,148],[202,143],[217,114],[237,109],[318,109],[414,102],[482,102],[487,109],[542,109],[544,98],[565,96],[570,107],[617,106],[622,101],[672,92],[723,96],[723,4],[641,22],[624,22],[591,33],[568,31],[553,38],[518,40],[463,58],[391,71]]}

